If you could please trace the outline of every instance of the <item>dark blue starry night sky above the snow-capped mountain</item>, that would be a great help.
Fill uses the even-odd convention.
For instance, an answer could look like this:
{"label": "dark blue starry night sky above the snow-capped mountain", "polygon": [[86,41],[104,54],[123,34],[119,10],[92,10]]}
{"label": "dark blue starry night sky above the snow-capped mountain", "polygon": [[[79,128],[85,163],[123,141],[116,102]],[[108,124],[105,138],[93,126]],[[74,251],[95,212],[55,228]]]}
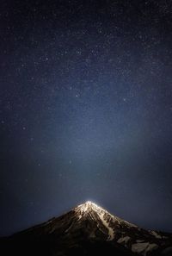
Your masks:
{"label": "dark blue starry night sky above the snow-capped mountain", "polygon": [[0,3],[0,235],[92,200],[172,231],[172,1]]}

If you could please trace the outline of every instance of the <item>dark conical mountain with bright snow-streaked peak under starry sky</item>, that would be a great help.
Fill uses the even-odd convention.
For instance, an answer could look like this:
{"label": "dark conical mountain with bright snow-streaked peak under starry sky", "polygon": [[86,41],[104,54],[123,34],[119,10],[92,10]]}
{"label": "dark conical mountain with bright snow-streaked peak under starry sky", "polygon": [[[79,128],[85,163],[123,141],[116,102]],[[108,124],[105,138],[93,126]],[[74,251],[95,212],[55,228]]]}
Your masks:
{"label": "dark conical mountain with bright snow-streaked peak under starry sky", "polygon": [[172,255],[172,234],[145,230],[86,202],[0,240],[2,255]]}

